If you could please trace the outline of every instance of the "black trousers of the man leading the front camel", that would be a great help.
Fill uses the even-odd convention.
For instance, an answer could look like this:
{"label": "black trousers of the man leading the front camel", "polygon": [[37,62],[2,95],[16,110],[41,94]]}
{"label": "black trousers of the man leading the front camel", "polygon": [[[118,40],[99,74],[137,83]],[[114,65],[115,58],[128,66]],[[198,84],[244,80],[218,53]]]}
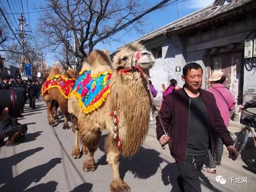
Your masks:
{"label": "black trousers of the man leading the front camel", "polygon": [[180,190],[183,192],[201,192],[199,174],[206,160],[204,156],[186,156],[185,165],[176,162],[180,176],[177,178]]}

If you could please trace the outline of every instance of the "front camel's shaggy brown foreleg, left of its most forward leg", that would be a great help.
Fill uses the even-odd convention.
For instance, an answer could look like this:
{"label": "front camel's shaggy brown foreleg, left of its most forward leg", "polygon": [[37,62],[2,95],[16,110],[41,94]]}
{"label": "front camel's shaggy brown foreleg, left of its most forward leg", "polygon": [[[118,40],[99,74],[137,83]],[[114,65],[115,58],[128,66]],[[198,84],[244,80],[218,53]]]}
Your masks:
{"label": "front camel's shaggy brown foreleg, left of its most forward leg", "polygon": [[83,164],[83,170],[85,172],[95,171],[97,169],[97,165],[94,160],[94,152],[97,150],[100,141],[100,130],[87,131],[86,134],[87,136],[84,136],[84,146],[88,146],[88,154],[87,159]]}

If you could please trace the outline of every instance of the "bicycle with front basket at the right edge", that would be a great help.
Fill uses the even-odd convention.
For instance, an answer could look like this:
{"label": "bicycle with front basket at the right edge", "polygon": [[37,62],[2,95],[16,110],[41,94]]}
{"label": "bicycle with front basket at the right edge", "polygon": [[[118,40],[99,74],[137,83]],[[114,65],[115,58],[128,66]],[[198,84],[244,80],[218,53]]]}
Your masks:
{"label": "bicycle with front basket at the right edge", "polygon": [[254,127],[254,124],[256,123],[255,119],[256,119],[256,114],[249,112],[247,110],[242,110],[240,123],[243,124],[243,127],[239,132],[236,138],[236,141],[234,143],[234,147],[237,150],[236,158],[238,158],[240,153],[245,149],[245,146],[248,142],[249,133],[252,134],[252,137],[254,139],[254,144],[256,145],[256,136],[254,135],[252,130],[252,128],[254,128],[254,131],[256,132],[256,128]]}

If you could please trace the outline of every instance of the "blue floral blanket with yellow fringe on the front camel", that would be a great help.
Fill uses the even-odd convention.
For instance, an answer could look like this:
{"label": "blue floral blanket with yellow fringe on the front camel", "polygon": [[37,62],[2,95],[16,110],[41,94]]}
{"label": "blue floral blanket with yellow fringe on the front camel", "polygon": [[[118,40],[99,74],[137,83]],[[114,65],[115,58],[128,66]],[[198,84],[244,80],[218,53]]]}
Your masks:
{"label": "blue floral blanket with yellow fringe on the front camel", "polygon": [[78,98],[82,111],[88,114],[99,108],[108,98],[112,71],[91,74],[91,70],[84,70],[79,74],[71,95]]}

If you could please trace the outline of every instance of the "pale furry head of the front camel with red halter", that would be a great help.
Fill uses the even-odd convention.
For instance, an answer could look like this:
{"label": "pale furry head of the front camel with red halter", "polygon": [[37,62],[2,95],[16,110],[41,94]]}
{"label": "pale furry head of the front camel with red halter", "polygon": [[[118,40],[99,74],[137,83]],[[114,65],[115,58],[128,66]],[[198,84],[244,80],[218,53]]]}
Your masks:
{"label": "pale furry head of the front camel with red halter", "polygon": [[124,46],[116,53],[113,65],[116,70],[128,69],[139,66],[146,74],[153,67],[155,58],[151,52],[147,51],[142,44],[134,43]]}

